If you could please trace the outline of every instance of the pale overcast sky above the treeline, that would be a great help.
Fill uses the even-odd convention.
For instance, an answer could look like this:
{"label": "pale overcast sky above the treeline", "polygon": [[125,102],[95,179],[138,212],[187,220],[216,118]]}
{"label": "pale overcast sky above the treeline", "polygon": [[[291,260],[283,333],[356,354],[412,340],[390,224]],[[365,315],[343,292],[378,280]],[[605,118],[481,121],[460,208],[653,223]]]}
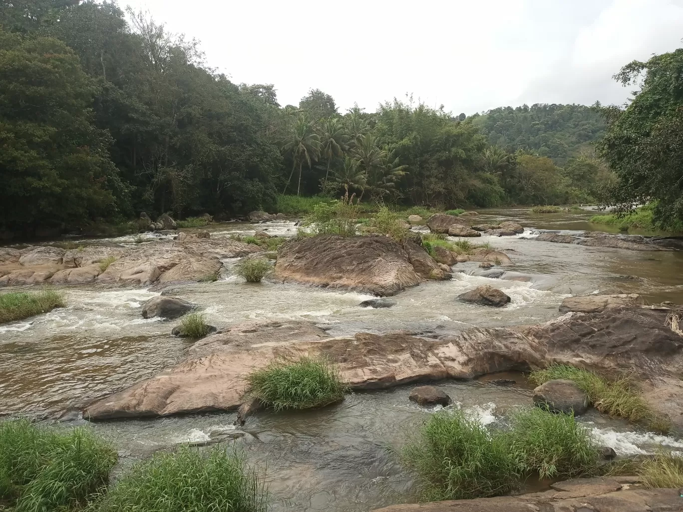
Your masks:
{"label": "pale overcast sky above the treeline", "polygon": [[622,104],[612,79],[682,46],[683,0],[119,0],[201,41],[236,83],[311,87],[339,111],[412,93],[472,114],[523,103]]}

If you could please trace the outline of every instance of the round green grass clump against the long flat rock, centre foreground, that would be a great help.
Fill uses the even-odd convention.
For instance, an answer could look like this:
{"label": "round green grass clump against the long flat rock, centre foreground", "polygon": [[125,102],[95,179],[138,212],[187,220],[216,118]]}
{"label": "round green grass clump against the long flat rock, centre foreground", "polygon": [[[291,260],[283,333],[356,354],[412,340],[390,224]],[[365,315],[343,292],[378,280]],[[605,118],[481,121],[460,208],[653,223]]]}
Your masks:
{"label": "round green grass clump against the long flat rock, centre foreground", "polygon": [[276,411],[326,406],[344,398],[346,385],[327,360],[275,360],[248,376],[251,393]]}

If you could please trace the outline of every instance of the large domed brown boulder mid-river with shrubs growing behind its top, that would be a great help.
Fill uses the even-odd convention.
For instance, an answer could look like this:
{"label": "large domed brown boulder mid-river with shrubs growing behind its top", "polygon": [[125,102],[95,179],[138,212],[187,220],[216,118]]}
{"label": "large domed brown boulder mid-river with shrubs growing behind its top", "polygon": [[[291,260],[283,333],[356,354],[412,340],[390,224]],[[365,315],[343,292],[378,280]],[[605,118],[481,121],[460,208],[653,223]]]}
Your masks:
{"label": "large domed brown boulder mid-river with shrubs growing behind its top", "polygon": [[275,276],[390,296],[419,284],[428,278],[426,272],[438,269],[423,248],[411,242],[406,246],[410,254],[386,236],[322,235],[294,240],[280,249]]}

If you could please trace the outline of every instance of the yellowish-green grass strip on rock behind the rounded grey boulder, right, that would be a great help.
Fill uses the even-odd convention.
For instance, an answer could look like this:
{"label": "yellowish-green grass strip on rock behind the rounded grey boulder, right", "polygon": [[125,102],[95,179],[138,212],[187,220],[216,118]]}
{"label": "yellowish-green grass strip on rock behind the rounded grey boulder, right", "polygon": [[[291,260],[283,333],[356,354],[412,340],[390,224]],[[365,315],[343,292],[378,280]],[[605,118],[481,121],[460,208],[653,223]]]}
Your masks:
{"label": "yellowish-green grass strip on rock behind the rounded grey boulder, right", "polygon": [[569,365],[553,365],[545,369],[531,371],[529,380],[544,384],[548,380],[573,380],[588,395],[593,406],[600,412],[626,418],[635,423],[645,423],[656,431],[667,432],[671,421],[656,414],[643,398],[640,390],[627,376],[605,378],[592,371]]}

